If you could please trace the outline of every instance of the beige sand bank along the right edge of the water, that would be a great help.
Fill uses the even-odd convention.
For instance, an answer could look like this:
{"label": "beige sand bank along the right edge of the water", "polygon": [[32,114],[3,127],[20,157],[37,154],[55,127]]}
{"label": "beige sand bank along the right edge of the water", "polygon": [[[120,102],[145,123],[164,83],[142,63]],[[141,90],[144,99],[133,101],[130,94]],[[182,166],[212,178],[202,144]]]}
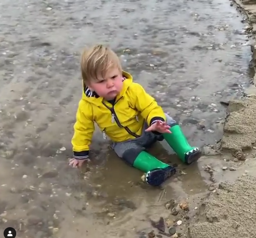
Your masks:
{"label": "beige sand bank along the right edge of the water", "polygon": [[[256,1],[233,1],[250,24],[251,70],[255,72]],[[247,4],[249,3],[249,4]],[[255,76],[244,97],[229,103],[219,145],[225,160],[223,178],[214,192],[202,200],[198,216],[191,222],[188,237],[254,237],[256,209],[256,88]],[[241,150],[242,149],[242,150]],[[233,168],[232,171],[229,169]],[[224,181],[222,183],[221,181]]]}

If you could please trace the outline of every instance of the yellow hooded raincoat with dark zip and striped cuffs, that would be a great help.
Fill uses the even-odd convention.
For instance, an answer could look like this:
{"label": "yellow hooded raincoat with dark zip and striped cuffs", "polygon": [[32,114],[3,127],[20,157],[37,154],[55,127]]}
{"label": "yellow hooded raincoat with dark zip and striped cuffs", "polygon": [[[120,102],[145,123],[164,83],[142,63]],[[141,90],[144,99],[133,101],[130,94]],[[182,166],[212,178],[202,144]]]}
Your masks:
{"label": "yellow hooded raincoat with dark zip and striped cuffs", "polygon": [[140,137],[145,120],[148,125],[155,120],[165,121],[163,109],[155,99],[140,84],[133,82],[129,73],[123,72],[123,76],[123,89],[117,95],[114,106],[84,88],[74,124],[74,158],[88,157],[94,122],[112,141],[121,142]]}

